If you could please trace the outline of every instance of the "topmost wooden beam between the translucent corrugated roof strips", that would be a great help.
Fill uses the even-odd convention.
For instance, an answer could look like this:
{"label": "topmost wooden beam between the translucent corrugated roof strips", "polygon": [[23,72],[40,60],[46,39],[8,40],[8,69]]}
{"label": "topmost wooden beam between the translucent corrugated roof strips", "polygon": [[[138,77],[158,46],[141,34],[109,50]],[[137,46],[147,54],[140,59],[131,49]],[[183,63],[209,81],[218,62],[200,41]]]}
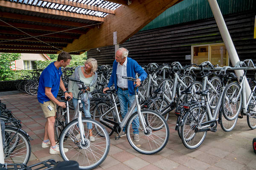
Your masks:
{"label": "topmost wooden beam between the translucent corrugated roof strips", "polygon": [[62,5],[67,5],[67,6],[74,6],[74,7],[78,7],[78,8],[89,9],[92,11],[100,11],[100,12],[104,12],[104,13],[108,13],[108,14],[115,14],[115,10],[112,10],[112,9],[102,8],[102,7],[98,7],[98,6],[91,6],[91,5],[87,5],[84,3],[77,3],[77,2],[73,2],[73,1],[69,1],[69,0],[43,0],[43,1],[49,2],[49,3],[58,3],[58,4],[62,4]]}

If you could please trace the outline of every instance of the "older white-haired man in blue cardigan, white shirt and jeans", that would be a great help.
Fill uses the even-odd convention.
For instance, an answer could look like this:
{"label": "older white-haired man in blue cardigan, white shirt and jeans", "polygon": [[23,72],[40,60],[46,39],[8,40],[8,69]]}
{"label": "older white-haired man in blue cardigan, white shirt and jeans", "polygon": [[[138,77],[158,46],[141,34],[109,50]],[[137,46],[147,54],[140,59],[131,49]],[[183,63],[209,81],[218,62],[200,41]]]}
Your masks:
{"label": "older white-haired man in blue cardigan, white shirt and jeans", "polygon": [[[103,89],[103,93],[105,93],[105,91],[108,90],[113,84],[115,85],[123,118],[128,111],[128,103],[131,106],[135,99],[134,87],[140,86],[141,81],[143,81],[148,75],[134,59],[128,57],[128,53],[129,51],[126,48],[119,48],[116,51],[116,60],[113,62],[113,70],[108,87]],[[133,83],[122,78],[122,76],[136,78],[136,73],[139,74],[136,84],[135,82]],[[138,118],[136,122],[139,122]],[[138,142],[140,140],[138,125],[133,123],[132,128],[134,130],[134,142]],[[124,136],[125,129],[123,129],[119,135]]]}

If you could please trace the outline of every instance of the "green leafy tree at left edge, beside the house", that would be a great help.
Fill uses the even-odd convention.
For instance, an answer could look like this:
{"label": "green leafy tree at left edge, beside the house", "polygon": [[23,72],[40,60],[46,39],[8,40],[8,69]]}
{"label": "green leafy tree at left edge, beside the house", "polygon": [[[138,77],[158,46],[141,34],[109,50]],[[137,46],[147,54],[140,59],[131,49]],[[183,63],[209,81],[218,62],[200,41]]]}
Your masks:
{"label": "green leafy tree at left edge, beside the house", "polygon": [[7,80],[11,77],[12,71],[10,67],[12,62],[20,59],[20,53],[0,53],[0,80]]}

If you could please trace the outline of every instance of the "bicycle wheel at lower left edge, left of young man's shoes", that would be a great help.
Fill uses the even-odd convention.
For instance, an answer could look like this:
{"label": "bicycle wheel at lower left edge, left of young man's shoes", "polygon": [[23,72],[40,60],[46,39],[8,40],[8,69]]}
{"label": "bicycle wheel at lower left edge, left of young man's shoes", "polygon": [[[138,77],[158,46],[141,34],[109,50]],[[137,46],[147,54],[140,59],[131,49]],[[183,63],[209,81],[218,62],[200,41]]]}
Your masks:
{"label": "bicycle wheel at lower left edge, left of young man's shoes", "polygon": [[16,128],[6,127],[5,136],[5,143],[8,144],[4,148],[5,163],[27,164],[31,155],[31,145],[26,134],[17,131]]}

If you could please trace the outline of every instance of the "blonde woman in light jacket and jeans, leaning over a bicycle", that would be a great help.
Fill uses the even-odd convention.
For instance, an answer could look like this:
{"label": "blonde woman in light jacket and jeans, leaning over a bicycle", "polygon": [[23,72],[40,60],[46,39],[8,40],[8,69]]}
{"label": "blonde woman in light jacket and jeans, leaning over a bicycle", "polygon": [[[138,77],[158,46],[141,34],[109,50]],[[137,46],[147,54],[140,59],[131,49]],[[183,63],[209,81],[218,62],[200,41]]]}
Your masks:
{"label": "blonde woman in light jacket and jeans, leaning over a bicycle", "polygon": [[[83,110],[84,110],[84,116],[86,118],[91,118],[90,114],[90,98],[92,95],[90,92],[94,91],[94,88],[96,86],[97,82],[97,73],[96,70],[98,68],[97,60],[94,58],[89,58],[84,62],[84,66],[78,66],[75,71],[73,72],[72,76],[75,79],[79,79],[82,82],[84,82],[84,85],[87,85],[87,93],[84,93],[84,95],[81,97],[81,101],[83,104]],[[81,88],[81,85],[78,83],[75,83],[73,81],[68,82],[68,93],[73,96],[73,105],[76,110],[77,102],[78,102],[78,93],[79,88]],[[77,118],[78,115],[74,115],[74,119]],[[94,142],[95,139],[92,134],[92,124],[87,123],[87,129],[89,129],[89,136],[90,136],[90,142]],[[80,139],[80,134],[76,136],[78,139]]]}

